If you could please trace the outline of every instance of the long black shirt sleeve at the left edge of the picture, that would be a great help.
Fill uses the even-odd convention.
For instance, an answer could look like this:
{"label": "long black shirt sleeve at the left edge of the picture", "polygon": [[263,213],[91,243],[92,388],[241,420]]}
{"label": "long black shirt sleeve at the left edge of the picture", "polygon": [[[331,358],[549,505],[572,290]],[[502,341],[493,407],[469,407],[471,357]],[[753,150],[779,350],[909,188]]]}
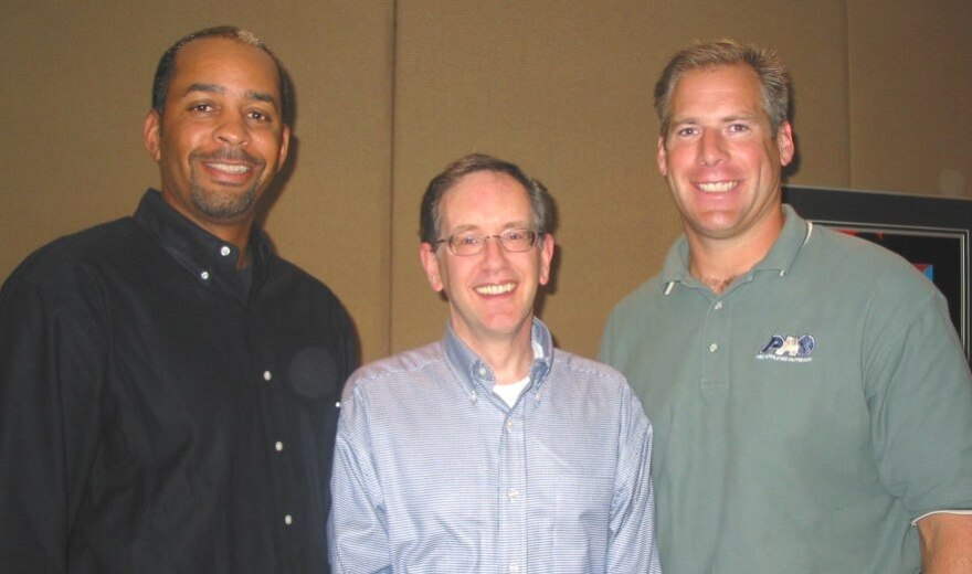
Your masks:
{"label": "long black shirt sleeve at the left edge of the picture", "polygon": [[102,329],[77,285],[53,283],[0,290],[0,564],[22,573],[66,572],[98,442]]}

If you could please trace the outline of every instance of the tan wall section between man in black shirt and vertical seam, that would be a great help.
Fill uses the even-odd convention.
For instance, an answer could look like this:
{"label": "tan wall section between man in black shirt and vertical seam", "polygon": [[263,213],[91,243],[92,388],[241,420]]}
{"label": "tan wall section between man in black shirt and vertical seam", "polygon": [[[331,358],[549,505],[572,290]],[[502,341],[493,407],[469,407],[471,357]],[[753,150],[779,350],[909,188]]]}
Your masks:
{"label": "tan wall section between man in black shirt and vertical seam", "polygon": [[295,1],[279,13],[273,45],[297,87],[299,146],[267,230],[338,294],[371,361],[389,352],[393,2]]}

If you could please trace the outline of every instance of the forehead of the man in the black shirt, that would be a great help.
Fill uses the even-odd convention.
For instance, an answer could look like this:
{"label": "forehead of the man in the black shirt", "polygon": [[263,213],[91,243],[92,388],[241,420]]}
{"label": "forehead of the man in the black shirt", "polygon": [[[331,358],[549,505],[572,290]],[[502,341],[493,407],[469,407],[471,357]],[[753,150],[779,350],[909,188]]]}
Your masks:
{"label": "forehead of the man in the black shirt", "polygon": [[193,40],[176,54],[170,94],[179,96],[192,84],[262,92],[279,102],[279,72],[273,57],[228,38]]}

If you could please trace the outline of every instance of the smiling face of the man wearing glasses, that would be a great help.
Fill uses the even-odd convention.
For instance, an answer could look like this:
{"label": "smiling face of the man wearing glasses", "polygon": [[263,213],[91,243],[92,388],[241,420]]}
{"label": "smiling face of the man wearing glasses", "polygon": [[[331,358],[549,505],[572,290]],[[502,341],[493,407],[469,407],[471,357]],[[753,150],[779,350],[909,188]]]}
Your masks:
{"label": "smiling face of the man wearing glasses", "polygon": [[[463,177],[442,196],[440,214],[440,238],[533,227],[527,190],[494,171]],[[533,299],[550,278],[552,256],[549,234],[521,253],[507,252],[496,238],[477,255],[455,255],[444,243],[423,243],[420,249],[429,284],[448,297],[453,329],[477,352],[497,342],[529,346]]]}

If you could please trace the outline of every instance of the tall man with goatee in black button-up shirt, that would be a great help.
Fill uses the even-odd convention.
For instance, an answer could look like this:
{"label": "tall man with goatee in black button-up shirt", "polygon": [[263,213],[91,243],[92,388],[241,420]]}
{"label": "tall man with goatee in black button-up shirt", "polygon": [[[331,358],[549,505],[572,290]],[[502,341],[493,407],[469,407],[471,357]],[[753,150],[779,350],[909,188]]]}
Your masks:
{"label": "tall man with goatee in black button-up shirt", "polygon": [[289,106],[249,32],[180,40],[145,120],[161,191],[3,285],[0,570],[328,571],[358,348],[334,294],[253,225]]}

